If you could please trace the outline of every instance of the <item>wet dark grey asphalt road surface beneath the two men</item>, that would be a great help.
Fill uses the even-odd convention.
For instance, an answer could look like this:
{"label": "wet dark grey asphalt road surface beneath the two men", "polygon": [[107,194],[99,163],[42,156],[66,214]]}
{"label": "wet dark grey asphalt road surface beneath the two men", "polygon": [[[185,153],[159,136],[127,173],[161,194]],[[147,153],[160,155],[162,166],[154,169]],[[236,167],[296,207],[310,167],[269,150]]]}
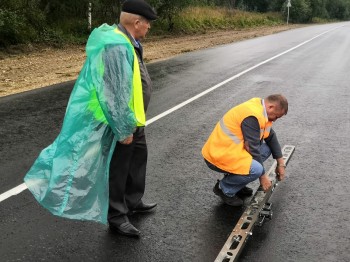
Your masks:
{"label": "wet dark grey asphalt road surface beneath the two men", "polygon": [[140,239],[55,217],[28,190],[7,197],[57,136],[73,82],[0,98],[0,261],[214,261],[242,209],[213,194],[221,175],[201,148],[228,109],[271,93],[289,100],[274,129],[296,150],[240,261],[350,261],[349,50],[350,23],[336,23],[149,64],[145,201],[158,208],[131,217]]}

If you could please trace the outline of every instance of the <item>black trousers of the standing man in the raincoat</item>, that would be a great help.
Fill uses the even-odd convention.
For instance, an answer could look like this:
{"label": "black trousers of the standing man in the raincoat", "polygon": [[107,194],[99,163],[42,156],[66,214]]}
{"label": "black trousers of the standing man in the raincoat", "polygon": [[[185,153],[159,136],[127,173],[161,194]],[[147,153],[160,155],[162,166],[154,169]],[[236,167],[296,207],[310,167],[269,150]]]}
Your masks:
{"label": "black trousers of the standing man in the raincoat", "polygon": [[137,128],[129,145],[117,143],[109,170],[108,221],[125,222],[145,192],[147,144],[144,128]]}

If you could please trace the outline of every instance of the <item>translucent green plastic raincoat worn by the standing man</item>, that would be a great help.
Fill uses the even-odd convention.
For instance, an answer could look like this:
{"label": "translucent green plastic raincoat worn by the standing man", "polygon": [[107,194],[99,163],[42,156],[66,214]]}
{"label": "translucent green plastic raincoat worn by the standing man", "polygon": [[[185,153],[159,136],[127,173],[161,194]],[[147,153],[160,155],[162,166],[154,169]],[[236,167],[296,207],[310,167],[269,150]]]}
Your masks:
{"label": "translucent green plastic raincoat worn by the standing man", "polygon": [[54,215],[106,224],[115,144],[145,124],[142,85],[133,46],[116,27],[95,29],[86,52],[61,132],[24,181]]}

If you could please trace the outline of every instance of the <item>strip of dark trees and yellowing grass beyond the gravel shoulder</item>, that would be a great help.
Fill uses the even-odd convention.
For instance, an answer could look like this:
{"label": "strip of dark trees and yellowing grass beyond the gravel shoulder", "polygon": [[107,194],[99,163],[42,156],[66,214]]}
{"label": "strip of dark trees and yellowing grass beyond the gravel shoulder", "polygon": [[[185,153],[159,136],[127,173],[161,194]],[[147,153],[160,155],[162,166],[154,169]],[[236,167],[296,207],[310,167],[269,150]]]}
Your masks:
{"label": "strip of dark trees and yellowing grass beyond the gravel shoulder", "polygon": [[[149,0],[159,19],[152,34],[193,34],[350,19],[350,0]],[[90,31],[118,23],[123,0],[0,0],[0,47],[83,43]],[[288,16],[288,17],[287,17]]]}

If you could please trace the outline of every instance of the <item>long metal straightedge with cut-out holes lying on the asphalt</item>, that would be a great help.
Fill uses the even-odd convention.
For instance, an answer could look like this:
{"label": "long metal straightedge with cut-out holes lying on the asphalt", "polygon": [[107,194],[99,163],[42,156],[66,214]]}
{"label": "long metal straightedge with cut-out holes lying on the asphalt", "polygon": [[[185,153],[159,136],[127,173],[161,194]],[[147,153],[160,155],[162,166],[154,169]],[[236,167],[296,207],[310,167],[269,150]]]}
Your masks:
{"label": "long metal straightedge with cut-out holes lying on the asphalt", "polygon": [[[285,165],[288,165],[294,150],[295,146],[285,145],[283,147],[282,154]],[[271,203],[268,201],[272,195],[272,192],[278,185],[275,169],[276,161],[267,172],[272,186],[266,192],[264,192],[261,187],[258,188],[249,206],[244,210],[231,235],[215,259],[215,262],[237,261],[238,256],[242,252],[249,236],[253,234],[252,231],[254,226],[262,226],[266,219],[272,219]]]}

